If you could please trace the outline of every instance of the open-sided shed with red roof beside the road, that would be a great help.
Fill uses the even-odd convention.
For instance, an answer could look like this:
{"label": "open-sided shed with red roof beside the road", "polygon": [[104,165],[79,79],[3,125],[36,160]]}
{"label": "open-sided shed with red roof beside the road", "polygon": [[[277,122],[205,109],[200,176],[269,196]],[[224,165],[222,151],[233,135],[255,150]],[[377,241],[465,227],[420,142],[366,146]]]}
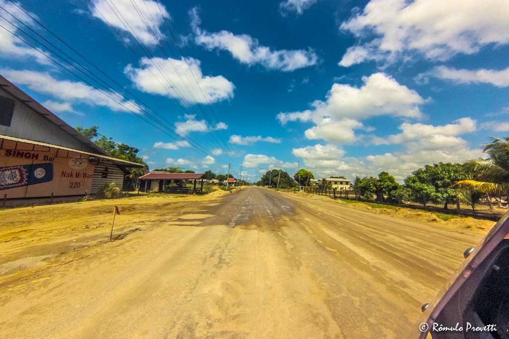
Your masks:
{"label": "open-sided shed with red roof beside the road", "polygon": [[[174,182],[175,180],[184,180],[189,182],[190,180],[193,182],[193,189],[189,189],[187,187],[175,187],[169,190],[169,192],[173,193],[202,193],[203,192],[203,175],[204,173],[169,173],[169,172],[149,172],[145,175],[139,177],[140,180],[143,180],[140,184],[140,190],[147,191],[157,191],[162,192],[166,183]],[[196,181],[200,180],[200,188],[196,189]]]}

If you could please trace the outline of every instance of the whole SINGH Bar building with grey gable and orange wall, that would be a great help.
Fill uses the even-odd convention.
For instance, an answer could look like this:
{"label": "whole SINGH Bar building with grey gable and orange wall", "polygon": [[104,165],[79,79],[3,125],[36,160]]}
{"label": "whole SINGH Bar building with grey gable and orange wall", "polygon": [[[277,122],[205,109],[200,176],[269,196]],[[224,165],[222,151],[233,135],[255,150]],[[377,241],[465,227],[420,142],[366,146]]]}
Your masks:
{"label": "whole SINGH Bar building with grey gable and orange wall", "polygon": [[0,199],[76,197],[143,165],[110,157],[0,76]]}

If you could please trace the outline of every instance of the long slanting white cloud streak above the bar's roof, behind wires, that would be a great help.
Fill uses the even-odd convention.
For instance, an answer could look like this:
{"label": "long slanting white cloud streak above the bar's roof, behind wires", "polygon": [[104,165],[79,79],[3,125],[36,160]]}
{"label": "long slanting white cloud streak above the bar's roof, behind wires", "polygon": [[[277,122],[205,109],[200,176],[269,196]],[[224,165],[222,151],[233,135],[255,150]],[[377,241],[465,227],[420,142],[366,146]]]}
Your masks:
{"label": "long slanting white cloud streak above the bar's roof, behind wires", "polygon": [[114,111],[140,113],[139,106],[133,101],[113,97],[120,102],[119,104],[106,97],[101,91],[83,82],[59,80],[53,78],[49,73],[36,71],[0,69],[0,73],[17,85],[25,85],[33,91],[47,94],[60,100],[83,103],[90,106],[105,106]]}

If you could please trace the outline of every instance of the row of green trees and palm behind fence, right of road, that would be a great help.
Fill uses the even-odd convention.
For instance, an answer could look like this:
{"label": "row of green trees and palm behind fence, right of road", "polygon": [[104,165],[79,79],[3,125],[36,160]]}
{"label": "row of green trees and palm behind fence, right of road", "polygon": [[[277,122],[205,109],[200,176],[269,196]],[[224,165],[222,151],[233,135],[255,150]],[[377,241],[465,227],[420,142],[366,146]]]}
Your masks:
{"label": "row of green trees and palm behind fence, right of road", "polygon": [[449,204],[464,201],[475,211],[480,199],[492,207],[495,196],[509,196],[509,137],[494,138],[485,145],[488,159],[470,160],[463,164],[438,163],[426,165],[412,172],[404,184],[396,182],[387,172],[378,177],[356,177],[354,186],[360,196],[378,201],[411,200],[423,206],[428,203]]}

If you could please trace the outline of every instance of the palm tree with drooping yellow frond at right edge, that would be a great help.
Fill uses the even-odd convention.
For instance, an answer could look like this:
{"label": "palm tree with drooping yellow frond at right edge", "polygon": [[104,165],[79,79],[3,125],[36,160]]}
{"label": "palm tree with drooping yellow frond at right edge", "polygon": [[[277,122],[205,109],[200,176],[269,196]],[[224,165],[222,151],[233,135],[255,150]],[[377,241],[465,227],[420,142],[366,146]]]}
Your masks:
{"label": "palm tree with drooping yellow frond at right edge", "polygon": [[484,152],[490,159],[465,164],[474,178],[458,181],[455,186],[485,194],[509,195],[509,137],[493,138],[485,145]]}

